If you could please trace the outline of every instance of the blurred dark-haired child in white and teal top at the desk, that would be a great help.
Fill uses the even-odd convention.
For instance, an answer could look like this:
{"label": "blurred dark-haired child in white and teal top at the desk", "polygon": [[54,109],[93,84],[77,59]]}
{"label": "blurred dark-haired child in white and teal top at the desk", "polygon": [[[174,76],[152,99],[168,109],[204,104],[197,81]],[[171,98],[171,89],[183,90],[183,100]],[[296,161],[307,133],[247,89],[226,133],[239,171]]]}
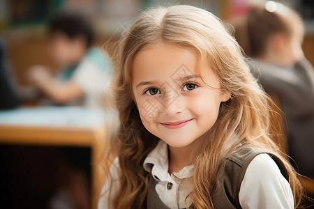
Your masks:
{"label": "blurred dark-haired child in white and teal top at the desk", "polygon": [[91,47],[91,24],[78,14],[64,13],[50,20],[48,31],[50,52],[61,71],[54,78],[47,68],[34,66],[31,83],[57,104],[100,107],[111,70],[105,53]]}

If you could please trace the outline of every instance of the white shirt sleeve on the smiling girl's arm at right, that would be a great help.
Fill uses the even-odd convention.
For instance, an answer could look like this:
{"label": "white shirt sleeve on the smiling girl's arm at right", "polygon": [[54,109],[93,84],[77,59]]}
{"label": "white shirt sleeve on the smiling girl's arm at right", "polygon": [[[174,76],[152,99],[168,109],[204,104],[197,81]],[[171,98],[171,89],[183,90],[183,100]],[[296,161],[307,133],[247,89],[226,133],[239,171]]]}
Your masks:
{"label": "white shirt sleeve on the smiling girl's arm at right", "polygon": [[244,209],[294,208],[291,187],[269,155],[257,155],[248,165],[239,202]]}

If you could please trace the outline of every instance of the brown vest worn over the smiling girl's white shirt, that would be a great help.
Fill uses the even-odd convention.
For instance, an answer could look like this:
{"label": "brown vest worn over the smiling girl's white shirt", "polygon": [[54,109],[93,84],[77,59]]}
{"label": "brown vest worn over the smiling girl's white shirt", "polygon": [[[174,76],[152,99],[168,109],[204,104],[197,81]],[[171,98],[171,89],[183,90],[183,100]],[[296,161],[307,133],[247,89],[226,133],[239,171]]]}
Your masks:
{"label": "brown vest worn over the smiling girl's white shirt", "polygon": [[[244,174],[253,158],[262,153],[267,153],[276,162],[283,176],[289,180],[289,174],[287,173],[287,169],[285,169],[285,165],[276,155],[272,155],[266,150],[253,148],[252,146],[242,147],[225,160],[225,167],[223,167],[223,172],[218,178],[219,182],[216,195],[212,197],[214,208],[241,208],[239,191]],[[147,209],[168,209],[163,201],[160,200],[155,185],[156,181],[154,178],[150,178],[147,192]],[[194,207],[190,206],[189,208]]]}

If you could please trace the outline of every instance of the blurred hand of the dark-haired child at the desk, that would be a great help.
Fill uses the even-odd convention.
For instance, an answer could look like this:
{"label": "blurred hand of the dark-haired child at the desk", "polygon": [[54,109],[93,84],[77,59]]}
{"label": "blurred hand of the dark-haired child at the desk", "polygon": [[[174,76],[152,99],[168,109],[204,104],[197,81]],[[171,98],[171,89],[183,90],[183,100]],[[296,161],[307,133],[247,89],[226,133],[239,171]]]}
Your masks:
{"label": "blurred hand of the dark-haired child at the desk", "polygon": [[43,65],[34,65],[29,68],[27,72],[27,79],[31,84],[38,84],[38,82],[43,82],[47,79],[52,79],[51,72],[49,68]]}

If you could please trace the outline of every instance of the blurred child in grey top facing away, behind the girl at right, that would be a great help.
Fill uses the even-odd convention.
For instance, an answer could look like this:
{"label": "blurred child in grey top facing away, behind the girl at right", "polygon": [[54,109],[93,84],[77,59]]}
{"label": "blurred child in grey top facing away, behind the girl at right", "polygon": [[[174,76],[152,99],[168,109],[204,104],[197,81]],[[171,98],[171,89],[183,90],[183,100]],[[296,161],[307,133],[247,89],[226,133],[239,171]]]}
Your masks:
{"label": "blurred child in grey top facing away, behind the girl at right", "polygon": [[301,17],[281,3],[253,6],[234,23],[236,39],[253,58],[251,71],[280,99],[287,120],[289,155],[301,174],[314,178],[314,70],[301,48]]}

